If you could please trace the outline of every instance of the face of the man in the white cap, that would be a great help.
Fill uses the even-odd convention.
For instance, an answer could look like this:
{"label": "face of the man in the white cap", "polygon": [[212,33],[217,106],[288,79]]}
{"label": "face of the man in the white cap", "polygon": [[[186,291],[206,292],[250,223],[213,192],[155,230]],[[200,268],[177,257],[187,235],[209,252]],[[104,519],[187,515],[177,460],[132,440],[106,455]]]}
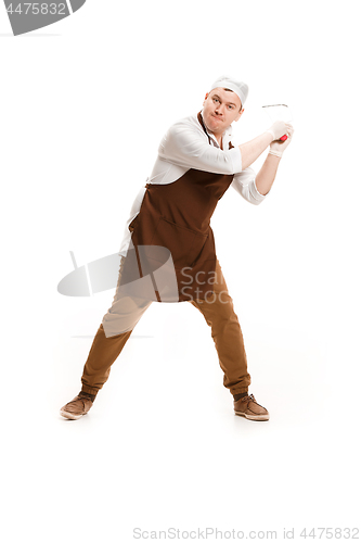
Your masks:
{"label": "face of the man in the white cap", "polygon": [[203,102],[204,123],[215,135],[223,134],[233,121],[238,121],[243,112],[237,94],[220,87],[207,92]]}

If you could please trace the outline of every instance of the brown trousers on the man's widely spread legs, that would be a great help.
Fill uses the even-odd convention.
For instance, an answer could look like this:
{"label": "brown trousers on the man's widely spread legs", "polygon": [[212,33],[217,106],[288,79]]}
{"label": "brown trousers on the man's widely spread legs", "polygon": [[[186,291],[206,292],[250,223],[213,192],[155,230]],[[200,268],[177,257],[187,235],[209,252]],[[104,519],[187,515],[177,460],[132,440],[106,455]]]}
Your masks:
{"label": "brown trousers on the man's widely spread legs", "polygon": [[[118,294],[123,266],[124,258],[120,262],[118,283],[112,307],[103,317],[83,367],[81,390],[90,394],[96,394],[107,381],[112,364],[119,356],[143,313],[152,304],[146,300],[125,298]],[[241,326],[218,261],[216,278],[217,282],[212,285],[214,294],[211,296],[207,296],[206,300],[193,300],[189,303],[199,310],[211,329],[219,364],[224,372],[224,387],[232,394],[238,394],[248,391],[250,376],[247,372],[247,358]],[[117,333],[119,330],[128,331]]]}

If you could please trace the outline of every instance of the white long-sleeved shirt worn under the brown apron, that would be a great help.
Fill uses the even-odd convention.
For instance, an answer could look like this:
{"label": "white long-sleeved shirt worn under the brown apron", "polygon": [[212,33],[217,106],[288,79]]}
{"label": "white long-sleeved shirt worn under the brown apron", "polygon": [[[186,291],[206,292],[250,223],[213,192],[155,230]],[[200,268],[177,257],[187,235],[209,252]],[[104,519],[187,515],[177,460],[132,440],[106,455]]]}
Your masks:
{"label": "white long-sleeved shirt worn under the brown apron", "polygon": [[[211,139],[211,146],[208,136]],[[248,202],[259,204],[265,200],[266,194],[260,194],[256,188],[256,173],[250,167],[242,169],[240,148],[234,147],[228,150],[231,136],[232,127],[230,126],[222,136],[222,150],[211,132],[205,134],[196,114],[182,118],[173,124],[163,137],[157,160],[146,184],[175,182],[191,168],[212,174],[234,174],[231,187]],[[126,256],[127,254],[131,239],[128,226],[138,215],[145,191],[146,188],[142,187],[132,204],[119,255]]]}

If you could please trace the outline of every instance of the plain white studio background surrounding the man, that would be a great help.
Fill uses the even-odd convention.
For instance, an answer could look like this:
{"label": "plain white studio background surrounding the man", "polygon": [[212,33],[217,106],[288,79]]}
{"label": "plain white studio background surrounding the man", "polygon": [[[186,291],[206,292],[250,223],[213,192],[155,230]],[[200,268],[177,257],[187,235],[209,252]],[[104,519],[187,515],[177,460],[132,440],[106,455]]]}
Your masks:
{"label": "plain white studio background surrounding the man", "polygon": [[[15,38],[0,9],[2,541],[358,527],[358,22],[356,1],[88,0]],[[153,304],[66,421],[114,294],[59,294],[69,251],[118,251],[162,136],[222,74],[249,85],[238,142],[263,104],[294,116],[267,200],[230,189],[211,223],[270,421],[233,415],[189,304]]]}

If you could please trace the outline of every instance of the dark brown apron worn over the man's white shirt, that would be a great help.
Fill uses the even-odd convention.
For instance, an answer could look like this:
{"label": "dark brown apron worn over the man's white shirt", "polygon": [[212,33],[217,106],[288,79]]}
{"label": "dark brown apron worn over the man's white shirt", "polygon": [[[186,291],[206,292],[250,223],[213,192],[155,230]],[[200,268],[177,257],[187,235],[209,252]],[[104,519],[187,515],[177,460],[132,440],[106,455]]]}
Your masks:
{"label": "dark brown apron worn over the man's white shirt", "polygon": [[[201,113],[198,121],[206,132]],[[211,144],[209,136],[208,139]],[[140,212],[129,225],[129,230],[132,231],[132,245],[137,252],[138,263],[138,249],[141,247],[169,250],[178,286],[178,295],[169,300],[159,296],[155,286],[154,300],[183,302],[193,299],[204,300],[211,294],[211,279],[215,276],[217,257],[214,232],[209,223],[218,201],[232,179],[233,174],[189,169],[177,181],[168,185],[146,185]],[[154,252],[152,258],[154,261]],[[127,260],[130,263],[132,258],[127,254]],[[155,267],[153,265],[152,269]],[[144,266],[143,273],[140,272],[140,276],[134,277],[134,280],[142,275],[145,275]],[[131,273],[126,272],[125,276],[127,276],[126,282],[132,279]]]}

